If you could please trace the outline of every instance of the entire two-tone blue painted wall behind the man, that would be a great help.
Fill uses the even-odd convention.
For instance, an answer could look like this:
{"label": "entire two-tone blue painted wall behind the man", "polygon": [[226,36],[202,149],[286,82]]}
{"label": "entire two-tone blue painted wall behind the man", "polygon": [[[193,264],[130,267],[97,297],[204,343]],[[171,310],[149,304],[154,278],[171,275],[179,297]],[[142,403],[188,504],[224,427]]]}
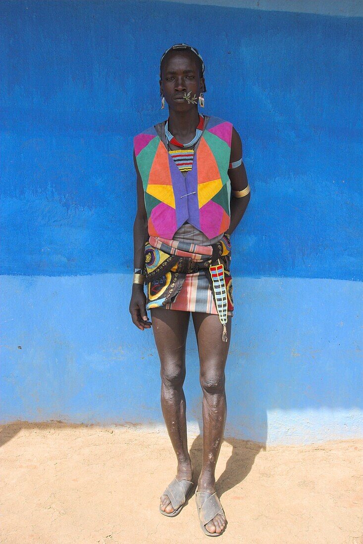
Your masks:
{"label": "entire two-tone blue painted wall behind the man", "polygon": [[[185,41],[207,66],[205,113],[241,134],[252,189],[232,238],[227,432],[361,432],[361,22],[0,3],[2,421],[161,421],[153,337],[128,315],[132,137],[164,119],[160,55]],[[190,335],[196,421],[197,366]]]}

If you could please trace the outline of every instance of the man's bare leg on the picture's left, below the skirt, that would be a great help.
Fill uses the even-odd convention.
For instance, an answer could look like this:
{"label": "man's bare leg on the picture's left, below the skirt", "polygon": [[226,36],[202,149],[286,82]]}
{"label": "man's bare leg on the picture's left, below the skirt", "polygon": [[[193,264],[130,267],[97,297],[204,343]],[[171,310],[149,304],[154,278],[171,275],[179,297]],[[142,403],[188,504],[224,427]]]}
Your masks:
{"label": "man's bare leg on the picture's left, below the skirt", "polygon": [[[178,480],[191,481],[183,391],[189,312],[152,308],[151,316],[161,364],[161,409],[178,461],[176,477]],[[165,512],[174,510],[167,495],[160,497],[160,505]]]}

